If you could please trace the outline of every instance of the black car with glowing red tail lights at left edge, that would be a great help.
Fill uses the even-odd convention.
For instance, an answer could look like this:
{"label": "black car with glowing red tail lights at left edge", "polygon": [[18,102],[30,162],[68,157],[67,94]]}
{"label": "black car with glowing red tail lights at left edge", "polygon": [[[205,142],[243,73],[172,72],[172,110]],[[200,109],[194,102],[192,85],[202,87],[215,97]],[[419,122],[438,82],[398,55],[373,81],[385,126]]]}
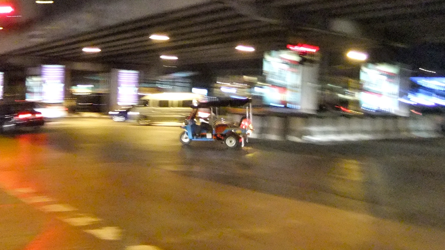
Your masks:
{"label": "black car with glowing red tail lights at left edge", "polygon": [[43,115],[34,110],[32,102],[0,103],[0,133],[27,127],[38,129],[43,125]]}

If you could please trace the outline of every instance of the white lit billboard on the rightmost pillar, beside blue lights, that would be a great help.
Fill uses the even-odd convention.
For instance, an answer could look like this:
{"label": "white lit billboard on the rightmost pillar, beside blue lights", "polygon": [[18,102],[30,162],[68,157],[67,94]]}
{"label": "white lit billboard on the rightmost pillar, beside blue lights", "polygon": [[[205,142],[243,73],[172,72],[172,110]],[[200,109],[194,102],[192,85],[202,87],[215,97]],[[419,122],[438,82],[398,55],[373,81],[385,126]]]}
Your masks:
{"label": "white lit billboard on the rightmost pillar, beside blue lights", "polygon": [[360,106],[367,111],[399,112],[400,67],[365,64],[360,69]]}

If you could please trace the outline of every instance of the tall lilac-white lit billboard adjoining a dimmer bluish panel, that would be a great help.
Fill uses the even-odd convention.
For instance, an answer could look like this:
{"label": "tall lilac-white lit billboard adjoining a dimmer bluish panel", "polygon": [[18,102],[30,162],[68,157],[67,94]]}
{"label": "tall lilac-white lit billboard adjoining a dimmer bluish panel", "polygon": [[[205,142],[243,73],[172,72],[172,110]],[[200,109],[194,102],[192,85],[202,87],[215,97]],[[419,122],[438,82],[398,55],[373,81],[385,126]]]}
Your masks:
{"label": "tall lilac-white lit billboard adjoining a dimmer bluish panel", "polygon": [[64,65],[42,65],[42,100],[46,103],[64,101]]}

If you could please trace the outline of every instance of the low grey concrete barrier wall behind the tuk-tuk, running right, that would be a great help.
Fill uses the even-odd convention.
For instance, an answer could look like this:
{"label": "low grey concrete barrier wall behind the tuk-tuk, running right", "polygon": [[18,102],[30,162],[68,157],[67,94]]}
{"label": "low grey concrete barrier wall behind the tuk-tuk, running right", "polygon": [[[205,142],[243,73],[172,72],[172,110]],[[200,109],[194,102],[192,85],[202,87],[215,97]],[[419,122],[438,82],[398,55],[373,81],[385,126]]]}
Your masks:
{"label": "low grey concrete barrier wall behind the tuk-tuk, running right", "polygon": [[[236,121],[240,115],[229,115]],[[252,138],[297,142],[360,141],[441,137],[443,119],[419,117],[275,117],[254,116]]]}

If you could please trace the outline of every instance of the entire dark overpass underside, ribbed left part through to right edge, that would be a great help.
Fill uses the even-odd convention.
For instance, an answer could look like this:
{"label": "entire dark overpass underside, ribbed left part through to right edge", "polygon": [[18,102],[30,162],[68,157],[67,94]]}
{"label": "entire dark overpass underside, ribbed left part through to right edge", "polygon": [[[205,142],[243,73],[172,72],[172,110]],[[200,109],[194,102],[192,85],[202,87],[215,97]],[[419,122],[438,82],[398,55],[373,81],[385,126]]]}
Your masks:
{"label": "entire dark overpass underside, ribbed left part through to right edge", "polygon": [[[100,1],[76,3],[83,4],[81,8],[85,10],[88,4]],[[104,3],[118,4],[119,1],[104,0]],[[47,16],[76,12],[77,5],[73,5],[72,1],[62,2],[65,5],[47,6],[37,12],[48,13]],[[366,49],[391,44],[406,48],[413,44],[445,43],[445,30],[442,28],[445,24],[445,3],[441,0],[189,2],[199,4],[166,9],[105,27],[99,25],[93,31],[70,36],[65,34],[63,38],[49,39],[32,46],[17,46],[17,49],[4,53],[3,58],[28,56],[33,60],[40,58],[52,62],[185,66],[258,60],[267,50],[284,48],[288,42],[300,40],[337,52],[355,46]],[[131,5],[131,8],[134,6],[137,5]],[[149,36],[154,33],[164,33],[170,40],[150,40]],[[234,49],[238,44],[251,45],[256,50],[239,52]],[[87,46],[97,46],[101,52],[85,54],[81,49]],[[174,62],[161,60],[161,55],[174,55],[179,59]]]}

